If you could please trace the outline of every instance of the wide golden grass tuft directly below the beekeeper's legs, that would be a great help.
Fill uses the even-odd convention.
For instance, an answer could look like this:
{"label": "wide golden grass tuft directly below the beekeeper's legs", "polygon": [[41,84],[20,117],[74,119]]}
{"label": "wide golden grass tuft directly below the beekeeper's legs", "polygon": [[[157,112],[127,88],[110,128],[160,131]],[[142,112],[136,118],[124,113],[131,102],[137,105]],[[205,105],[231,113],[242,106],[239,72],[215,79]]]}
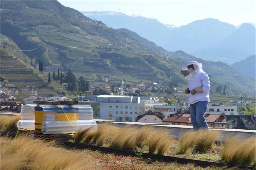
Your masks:
{"label": "wide golden grass tuft directly below the beekeeper's legs", "polygon": [[174,155],[179,153],[191,153],[194,149],[199,152],[206,152],[213,148],[215,141],[220,135],[220,131],[217,130],[189,130],[188,132],[181,135],[178,147],[174,152]]}

